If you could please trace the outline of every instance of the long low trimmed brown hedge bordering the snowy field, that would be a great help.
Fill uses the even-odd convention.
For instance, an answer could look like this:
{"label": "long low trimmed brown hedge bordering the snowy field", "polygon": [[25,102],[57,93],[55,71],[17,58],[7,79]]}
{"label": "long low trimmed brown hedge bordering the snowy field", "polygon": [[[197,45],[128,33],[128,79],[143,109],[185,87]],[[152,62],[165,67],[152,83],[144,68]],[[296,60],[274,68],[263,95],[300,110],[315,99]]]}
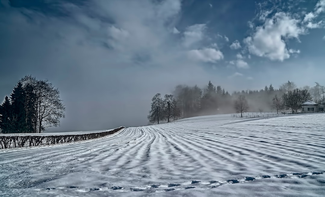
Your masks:
{"label": "long low trimmed brown hedge bordering the snowy field", "polygon": [[53,145],[69,142],[78,142],[90,139],[96,139],[114,134],[125,127],[119,127],[110,131],[90,133],[90,134],[72,134],[72,135],[0,135],[0,149],[3,148],[21,148],[41,145]]}

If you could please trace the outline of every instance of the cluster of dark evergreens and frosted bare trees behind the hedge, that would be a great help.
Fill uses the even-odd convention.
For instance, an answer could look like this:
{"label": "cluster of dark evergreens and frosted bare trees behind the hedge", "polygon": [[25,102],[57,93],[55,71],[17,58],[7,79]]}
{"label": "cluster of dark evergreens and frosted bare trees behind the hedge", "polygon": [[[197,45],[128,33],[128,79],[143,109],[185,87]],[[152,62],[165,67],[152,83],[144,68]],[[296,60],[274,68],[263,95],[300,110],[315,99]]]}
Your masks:
{"label": "cluster of dark evergreens and frosted bare trees behind the hedge", "polygon": [[59,90],[47,79],[25,76],[0,105],[0,131],[42,133],[49,127],[59,126],[64,111]]}

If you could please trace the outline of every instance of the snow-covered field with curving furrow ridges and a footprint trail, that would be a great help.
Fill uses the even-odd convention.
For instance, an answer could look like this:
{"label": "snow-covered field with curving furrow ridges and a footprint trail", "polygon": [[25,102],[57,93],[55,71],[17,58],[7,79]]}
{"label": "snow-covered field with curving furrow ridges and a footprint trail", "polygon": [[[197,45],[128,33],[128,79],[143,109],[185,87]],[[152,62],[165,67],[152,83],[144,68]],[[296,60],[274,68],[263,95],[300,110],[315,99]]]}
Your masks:
{"label": "snow-covered field with curving furrow ridges and a footprint trail", "polygon": [[0,150],[0,196],[325,196],[324,119],[204,116]]}

